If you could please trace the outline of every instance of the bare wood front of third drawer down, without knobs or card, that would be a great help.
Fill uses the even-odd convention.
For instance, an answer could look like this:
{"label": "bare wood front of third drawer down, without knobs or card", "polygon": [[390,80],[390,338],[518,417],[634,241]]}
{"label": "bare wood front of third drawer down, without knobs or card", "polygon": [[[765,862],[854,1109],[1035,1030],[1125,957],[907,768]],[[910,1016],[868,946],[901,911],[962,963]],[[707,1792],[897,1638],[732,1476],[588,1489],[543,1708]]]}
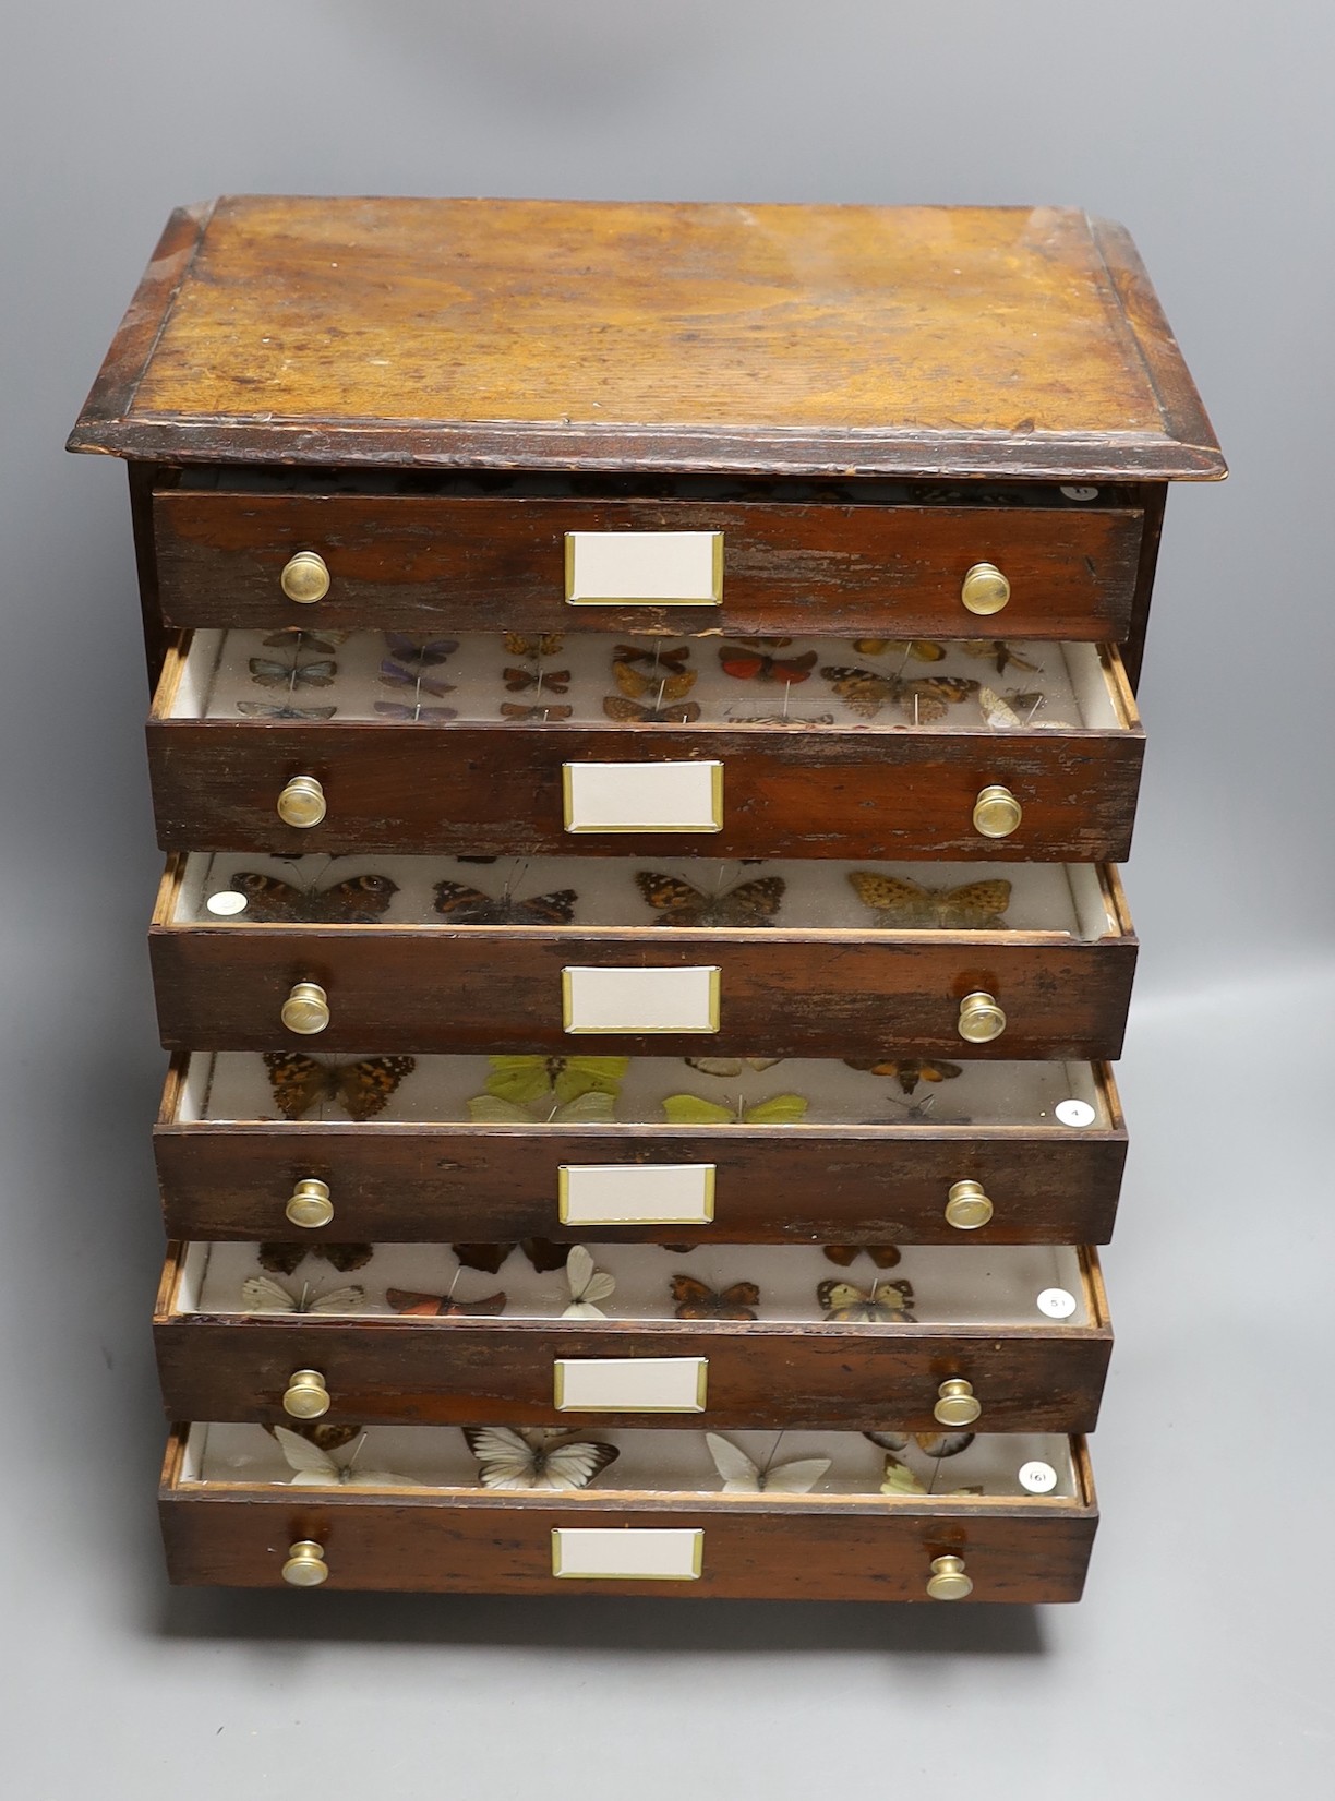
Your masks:
{"label": "bare wood front of third drawer down, without knobs or card", "polygon": [[[559,931],[530,928],[157,926],[153,982],[171,1050],[560,1052],[593,1046],[701,1055],[879,1057],[885,1046],[958,1055],[962,1003],[993,996],[1005,1028],[969,1055],[1115,1059],[1135,942],[1027,942],[989,933],[813,935]],[[913,940],[919,942],[913,942]],[[719,1030],[569,1032],[564,974],[582,969],[717,969]],[[299,1037],[283,1007],[301,983],[328,998],[328,1025]]]}

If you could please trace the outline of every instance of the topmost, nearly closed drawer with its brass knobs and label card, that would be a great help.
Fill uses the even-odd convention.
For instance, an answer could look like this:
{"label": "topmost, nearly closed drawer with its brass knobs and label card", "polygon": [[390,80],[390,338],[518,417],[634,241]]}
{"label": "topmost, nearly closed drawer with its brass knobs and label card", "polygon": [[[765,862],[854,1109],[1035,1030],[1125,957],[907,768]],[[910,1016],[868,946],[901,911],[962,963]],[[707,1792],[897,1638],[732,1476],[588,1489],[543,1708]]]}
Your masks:
{"label": "topmost, nearly closed drawer with its brass knobs and label card", "polygon": [[[1137,488],[186,468],[153,493],[171,625],[1121,639]],[[980,587],[969,573],[994,569]],[[976,591],[976,593],[975,593]],[[998,605],[1000,603],[1000,605]],[[984,611],[985,609],[985,611]]]}

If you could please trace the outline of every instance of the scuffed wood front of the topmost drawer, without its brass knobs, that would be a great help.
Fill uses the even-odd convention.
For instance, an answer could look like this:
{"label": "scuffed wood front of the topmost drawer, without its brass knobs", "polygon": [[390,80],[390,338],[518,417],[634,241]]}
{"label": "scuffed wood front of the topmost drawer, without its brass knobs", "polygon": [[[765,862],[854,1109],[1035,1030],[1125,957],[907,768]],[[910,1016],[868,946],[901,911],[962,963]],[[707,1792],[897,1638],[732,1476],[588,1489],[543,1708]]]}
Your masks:
{"label": "scuffed wood front of the topmost drawer, without its brass knobs", "polygon": [[[488,499],[441,495],[241,495],[164,488],[153,499],[162,611],[182,627],[389,627],[404,632],[724,630],[973,638],[980,618],[1009,638],[1122,639],[1144,515],[1139,508],[856,506],[708,501]],[[634,533],[609,580],[589,560],[575,580],[573,533]],[[712,537],[717,580],[658,535]],[[317,602],[294,602],[297,553],[328,571]],[[971,612],[975,564],[998,567],[1011,598]],[[641,571],[641,575],[636,575]],[[706,569],[708,575],[708,569]],[[297,585],[290,578],[290,585]],[[319,582],[315,584],[319,585]],[[625,605],[607,605],[607,589]],[[685,589],[686,605],[659,596]],[[710,591],[719,594],[712,602]],[[568,591],[602,603],[571,603]],[[685,598],[683,596],[683,598]],[[708,598],[706,598],[708,596]],[[613,593],[613,598],[614,593]],[[811,629],[811,625],[805,625]]]}

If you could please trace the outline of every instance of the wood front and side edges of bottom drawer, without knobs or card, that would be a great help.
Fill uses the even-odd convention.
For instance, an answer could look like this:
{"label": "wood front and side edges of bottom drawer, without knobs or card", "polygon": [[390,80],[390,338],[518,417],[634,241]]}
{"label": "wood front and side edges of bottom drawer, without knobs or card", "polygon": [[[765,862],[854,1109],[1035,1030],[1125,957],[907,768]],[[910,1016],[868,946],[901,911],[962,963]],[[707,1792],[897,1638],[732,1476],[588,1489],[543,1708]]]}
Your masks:
{"label": "wood front and side edges of bottom drawer, without knobs or card", "polygon": [[[326,1587],[429,1594],[694,1596],[751,1601],[922,1601],[931,1560],[962,1556],[969,1601],[1077,1601],[1099,1513],[1083,1441],[1074,1500],[843,1497],[564,1497],[476,1491],[330,1495],[182,1480],[184,1428],[162,1470],[160,1518],[173,1583],[281,1588],[288,1545],[324,1547]],[[699,1581],[571,1581],[551,1574],[551,1531],[697,1527]],[[294,1599],[294,1606],[304,1605]],[[319,1603],[315,1603],[319,1606]]]}

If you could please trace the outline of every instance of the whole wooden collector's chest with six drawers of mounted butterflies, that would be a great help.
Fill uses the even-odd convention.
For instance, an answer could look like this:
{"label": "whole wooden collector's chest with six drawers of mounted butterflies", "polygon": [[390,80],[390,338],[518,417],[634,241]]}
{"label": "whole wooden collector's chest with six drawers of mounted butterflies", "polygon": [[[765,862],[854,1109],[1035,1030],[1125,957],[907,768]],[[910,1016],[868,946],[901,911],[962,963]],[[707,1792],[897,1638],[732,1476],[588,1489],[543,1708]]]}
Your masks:
{"label": "whole wooden collector's chest with six drawers of mounted butterflies", "polygon": [[1133,690],[1223,474],[1121,227],[222,200],[70,448],[153,684],[173,1579],[1076,1599]]}

